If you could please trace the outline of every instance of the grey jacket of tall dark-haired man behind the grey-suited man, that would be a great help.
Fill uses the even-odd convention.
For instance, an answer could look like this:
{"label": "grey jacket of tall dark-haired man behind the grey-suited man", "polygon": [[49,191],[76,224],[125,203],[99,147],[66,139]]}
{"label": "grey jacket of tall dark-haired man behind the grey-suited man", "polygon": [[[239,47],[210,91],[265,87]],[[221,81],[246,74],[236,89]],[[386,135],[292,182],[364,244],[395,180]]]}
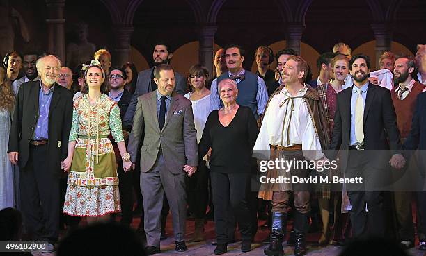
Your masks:
{"label": "grey jacket of tall dark-haired man behind the grey-suited man", "polygon": [[[127,108],[127,112],[125,117],[123,118],[123,126],[129,129],[133,123],[134,112],[136,111],[136,103],[138,102],[138,97],[143,94],[148,94],[148,92],[152,92],[151,85],[151,75],[154,71],[154,67],[150,69],[145,69],[140,71],[138,74],[138,80],[136,80],[136,89],[132,96],[132,101],[130,101],[129,108]],[[178,94],[186,94],[188,91],[187,79],[185,79],[181,74],[175,71],[175,91]]]}

